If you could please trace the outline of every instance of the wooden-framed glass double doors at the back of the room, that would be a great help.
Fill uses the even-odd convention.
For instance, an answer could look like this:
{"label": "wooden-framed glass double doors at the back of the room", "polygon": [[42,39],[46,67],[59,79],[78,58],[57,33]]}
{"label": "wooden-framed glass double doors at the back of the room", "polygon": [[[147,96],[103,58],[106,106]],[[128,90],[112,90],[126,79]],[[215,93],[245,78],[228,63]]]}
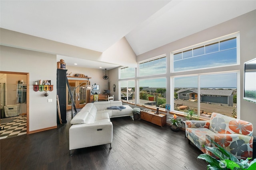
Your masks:
{"label": "wooden-framed glass double doors at the back of the room", "polygon": [[[74,103],[75,103],[76,108],[82,108],[87,103],[90,102],[90,90],[87,90],[86,88],[84,88],[84,86],[90,85],[89,80],[68,80],[68,84],[70,86],[71,92],[72,93],[74,92],[73,98],[74,98]],[[68,88],[67,88],[66,98],[67,98],[67,102],[66,102],[67,107],[66,108],[72,109],[72,100],[71,100],[71,96],[68,92]]]}

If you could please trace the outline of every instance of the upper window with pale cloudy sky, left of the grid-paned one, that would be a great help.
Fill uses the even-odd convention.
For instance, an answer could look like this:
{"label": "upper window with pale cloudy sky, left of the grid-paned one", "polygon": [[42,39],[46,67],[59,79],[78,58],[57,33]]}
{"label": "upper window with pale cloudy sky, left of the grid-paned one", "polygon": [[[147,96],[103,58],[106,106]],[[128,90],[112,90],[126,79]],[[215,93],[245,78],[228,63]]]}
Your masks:
{"label": "upper window with pale cloudy sky, left of the grid-paned one", "polygon": [[139,63],[139,76],[166,73],[166,57]]}

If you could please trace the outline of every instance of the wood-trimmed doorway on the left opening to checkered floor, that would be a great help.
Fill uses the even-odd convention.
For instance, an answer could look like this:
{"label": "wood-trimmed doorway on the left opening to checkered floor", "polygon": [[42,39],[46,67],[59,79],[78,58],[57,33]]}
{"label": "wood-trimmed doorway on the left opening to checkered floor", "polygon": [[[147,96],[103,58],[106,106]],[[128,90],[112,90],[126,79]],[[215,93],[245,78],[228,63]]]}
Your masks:
{"label": "wood-trimmed doorway on the left opening to checkered floor", "polygon": [[1,139],[29,134],[29,73],[0,71],[0,83]]}

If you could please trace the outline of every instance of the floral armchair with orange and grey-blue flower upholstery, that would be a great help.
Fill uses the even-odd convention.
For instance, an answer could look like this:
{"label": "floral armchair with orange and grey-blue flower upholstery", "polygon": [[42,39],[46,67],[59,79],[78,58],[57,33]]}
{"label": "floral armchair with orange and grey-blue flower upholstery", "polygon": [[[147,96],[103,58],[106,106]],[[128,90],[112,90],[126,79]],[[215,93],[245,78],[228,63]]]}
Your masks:
{"label": "floral armchair with orange and grey-blue flower upholstery", "polygon": [[252,158],[252,123],[219,113],[212,113],[209,121],[186,121],[186,137],[202,152],[212,155],[203,145],[215,147],[215,141],[238,159]]}

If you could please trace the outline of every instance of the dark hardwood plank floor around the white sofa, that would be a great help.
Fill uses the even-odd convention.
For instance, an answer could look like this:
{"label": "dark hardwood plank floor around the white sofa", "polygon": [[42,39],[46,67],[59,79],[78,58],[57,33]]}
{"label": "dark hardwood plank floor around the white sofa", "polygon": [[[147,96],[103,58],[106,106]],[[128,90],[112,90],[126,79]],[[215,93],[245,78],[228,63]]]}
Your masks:
{"label": "dark hardwood plank floor around the white sofa", "polygon": [[206,170],[202,152],[184,131],[173,132],[130,117],[112,118],[113,142],[76,149],[69,157],[68,123],[58,128],[0,140],[1,170]]}

